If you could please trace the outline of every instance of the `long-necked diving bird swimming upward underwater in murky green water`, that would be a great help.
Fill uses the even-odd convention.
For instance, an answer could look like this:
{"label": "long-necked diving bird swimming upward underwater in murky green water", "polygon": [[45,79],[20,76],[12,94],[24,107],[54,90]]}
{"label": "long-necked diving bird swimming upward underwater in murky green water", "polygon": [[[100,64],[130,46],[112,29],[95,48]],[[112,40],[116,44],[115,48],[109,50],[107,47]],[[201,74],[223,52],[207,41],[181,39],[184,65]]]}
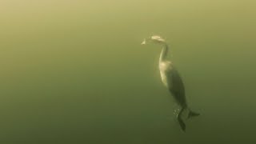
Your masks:
{"label": "long-necked diving bird swimming upward underwater in murky green water", "polygon": [[162,83],[170,91],[170,94],[172,94],[174,100],[178,103],[178,105],[181,106],[181,110],[177,114],[177,119],[182,130],[186,131],[186,124],[182,120],[182,113],[184,112],[184,110],[189,111],[187,118],[198,116],[199,114],[190,110],[187,105],[185,88],[182,82],[182,78],[178,74],[178,70],[175,69],[173,62],[167,60],[169,46],[166,43],[165,39],[161,38],[158,35],[154,35],[150,38],[145,38],[142,42],[142,45],[145,45],[149,41],[158,43],[162,46],[162,52],[159,58],[159,70],[162,78]]}

